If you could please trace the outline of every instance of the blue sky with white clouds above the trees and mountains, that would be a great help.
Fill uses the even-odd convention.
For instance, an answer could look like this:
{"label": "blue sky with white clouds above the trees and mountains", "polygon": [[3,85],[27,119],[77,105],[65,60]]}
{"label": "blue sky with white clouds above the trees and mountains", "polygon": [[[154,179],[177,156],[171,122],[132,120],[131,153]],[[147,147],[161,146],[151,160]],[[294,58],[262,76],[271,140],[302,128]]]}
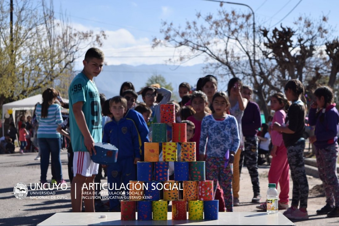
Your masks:
{"label": "blue sky with white clouds above the trees and mountains", "polygon": [[[234,2],[250,5],[255,11],[256,25],[270,27],[286,16],[299,0],[234,0]],[[302,0],[282,23],[292,26],[294,19],[300,15],[313,18],[326,15],[329,23],[336,26],[339,21],[339,14],[335,11],[338,5],[338,0]],[[162,20],[184,25],[186,20],[194,20],[197,12],[201,12],[202,15],[216,13],[219,3],[203,0],[54,0],[54,7],[56,13],[61,9],[66,11],[70,21],[78,29],[106,32],[108,38],[104,41],[102,49],[107,64],[140,65],[165,63],[164,60],[168,57],[149,56],[173,54],[171,48],[151,48],[154,37],[163,37],[159,33]],[[224,7],[250,13],[245,6],[225,4]],[[334,35],[338,34],[336,31]],[[188,62],[187,65],[201,62],[203,58]]]}

